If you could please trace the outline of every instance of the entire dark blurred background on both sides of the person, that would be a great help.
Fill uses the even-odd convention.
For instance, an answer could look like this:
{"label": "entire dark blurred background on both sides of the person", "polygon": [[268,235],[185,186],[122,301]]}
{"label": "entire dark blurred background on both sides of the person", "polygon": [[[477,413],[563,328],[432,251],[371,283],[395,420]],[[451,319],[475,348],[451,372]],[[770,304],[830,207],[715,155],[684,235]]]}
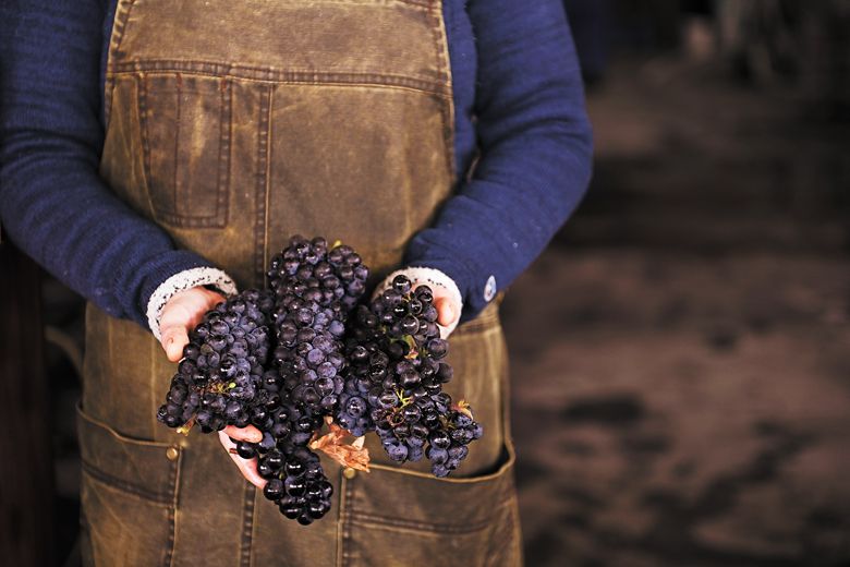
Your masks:
{"label": "entire dark blurred background on both sides of the person", "polygon": [[[527,565],[850,565],[850,2],[564,4],[594,180],[502,303]],[[0,264],[2,548],[70,567],[83,304]]]}

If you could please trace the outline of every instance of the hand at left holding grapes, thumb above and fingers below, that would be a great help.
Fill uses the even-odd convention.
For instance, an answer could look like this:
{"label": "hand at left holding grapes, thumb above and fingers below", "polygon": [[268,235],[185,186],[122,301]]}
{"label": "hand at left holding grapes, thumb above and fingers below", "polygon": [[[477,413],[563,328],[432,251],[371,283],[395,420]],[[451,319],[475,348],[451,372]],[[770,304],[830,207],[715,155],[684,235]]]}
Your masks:
{"label": "hand at left holding grapes, thumb above and fingers below", "polygon": [[[178,362],[183,358],[183,347],[189,345],[189,331],[201,323],[207,311],[222,301],[224,297],[221,293],[201,286],[174,293],[168,300],[159,317],[161,337],[159,341],[168,360]],[[247,427],[228,425],[218,432],[218,437],[242,475],[250,483],[263,488],[267,481],[257,472],[257,459],[243,459],[236,455],[236,445],[231,441],[232,437],[238,441],[259,443],[263,438],[260,431],[253,425]]]}

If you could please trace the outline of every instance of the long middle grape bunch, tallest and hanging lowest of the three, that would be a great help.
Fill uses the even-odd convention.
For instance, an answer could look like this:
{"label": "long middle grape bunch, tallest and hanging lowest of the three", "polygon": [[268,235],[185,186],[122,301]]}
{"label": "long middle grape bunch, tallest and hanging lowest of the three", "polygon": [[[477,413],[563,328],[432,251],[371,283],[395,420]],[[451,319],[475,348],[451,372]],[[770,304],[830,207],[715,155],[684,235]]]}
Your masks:
{"label": "long middle grape bunch, tallest and hanging lowest of the three", "polygon": [[[243,458],[259,455],[266,498],[288,518],[308,524],[330,509],[332,488],[307,444],[342,393],[341,339],[368,269],[350,246],[328,249],[325,239],[293,237],[267,275],[277,346],[263,388],[275,394],[276,403],[267,406],[264,439],[236,449]],[[264,444],[266,435],[271,439]]]}

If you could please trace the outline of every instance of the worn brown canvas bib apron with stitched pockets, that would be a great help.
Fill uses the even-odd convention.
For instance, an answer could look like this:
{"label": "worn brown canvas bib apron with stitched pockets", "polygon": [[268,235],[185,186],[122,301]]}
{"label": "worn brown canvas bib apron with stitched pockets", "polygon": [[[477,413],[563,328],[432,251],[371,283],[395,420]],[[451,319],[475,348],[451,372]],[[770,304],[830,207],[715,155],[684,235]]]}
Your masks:
{"label": "worn brown canvas bib apron with stitched pockets", "polygon": [[[353,245],[375,278],[399,266],[453,186],[451,77],[438,0],[121,0],[101,174],[178,245],[263,286],[290,234]],[[485,436],[450,479],[323,458],[333,508],[287,520],[215,435],[156,421],[174,365],[147,330],[87,311],[78,414],[86,563],[519,565],[496,305],[456,330],[448,390]]]}

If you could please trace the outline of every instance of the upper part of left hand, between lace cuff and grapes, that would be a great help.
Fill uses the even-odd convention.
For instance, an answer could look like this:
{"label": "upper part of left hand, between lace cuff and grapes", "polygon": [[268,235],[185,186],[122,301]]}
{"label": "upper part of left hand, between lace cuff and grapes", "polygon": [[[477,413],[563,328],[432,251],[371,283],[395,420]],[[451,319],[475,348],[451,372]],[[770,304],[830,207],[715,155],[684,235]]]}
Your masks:
{"label": "upper part of left hand, between lace cuff and grapes", "polygon": [[159,342],[168,360],[183,358],[183,347],[189,345],[189,331],[201,323],[204,314],[224,301],[224,297],[204,287],[190,288],[174,293],[159,316]]}

